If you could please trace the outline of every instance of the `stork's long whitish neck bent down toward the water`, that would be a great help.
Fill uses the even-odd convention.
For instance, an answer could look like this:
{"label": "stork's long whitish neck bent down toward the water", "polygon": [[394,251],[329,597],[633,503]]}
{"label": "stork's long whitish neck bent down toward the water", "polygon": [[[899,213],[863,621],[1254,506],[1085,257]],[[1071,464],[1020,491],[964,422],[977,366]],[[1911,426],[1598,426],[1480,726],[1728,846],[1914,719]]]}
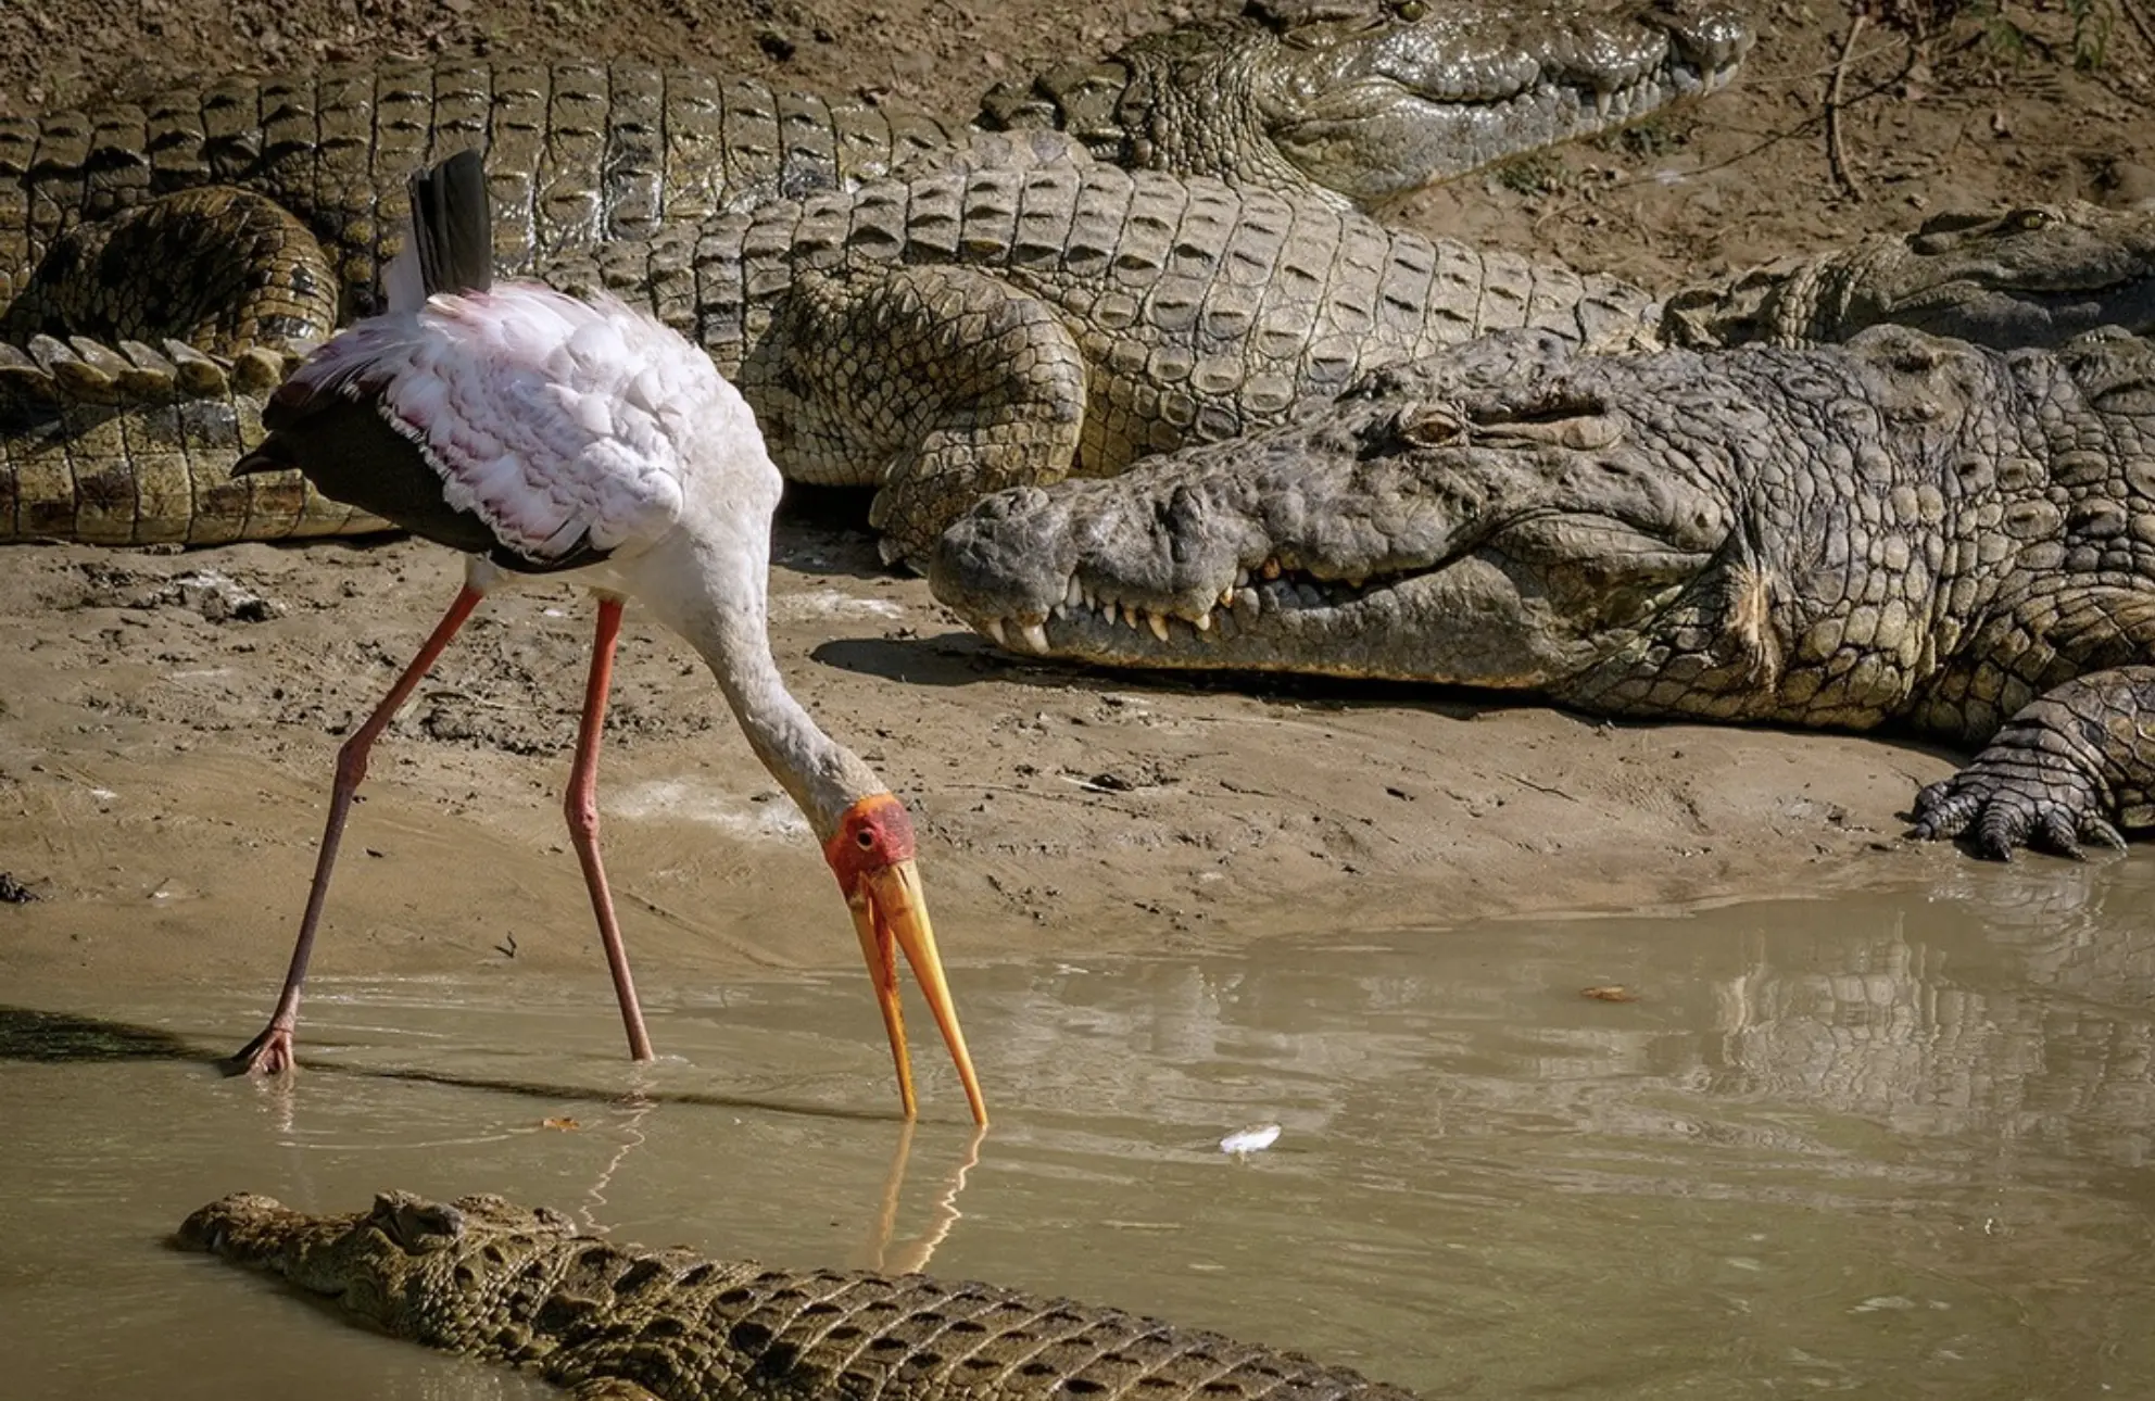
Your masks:
{"label": "stork's long whitish neck bent down toward the water", "polygon": [[703,653],[748,746],[808,817],[817,843],[830,841],[849,806],[886,791],[875,769],[825,735],[787,690],[771,657],[761,588],[752,599],[700,606],[677,627]]}

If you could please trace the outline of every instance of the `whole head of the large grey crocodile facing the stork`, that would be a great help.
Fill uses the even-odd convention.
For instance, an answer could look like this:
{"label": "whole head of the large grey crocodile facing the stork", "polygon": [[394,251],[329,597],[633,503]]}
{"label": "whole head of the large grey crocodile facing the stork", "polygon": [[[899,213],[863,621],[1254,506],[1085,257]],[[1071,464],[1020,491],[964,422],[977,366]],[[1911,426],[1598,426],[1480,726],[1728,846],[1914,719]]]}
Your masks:
{"label": "whole head of the large grey crocodile facing the stork", "polygon": [[929,584],[1015,651],[1547,690],[1631,647],[1735,522],[1726,459],[1657,450],[1599,364],[1493,336],[1284,429],[1002,491]]}

